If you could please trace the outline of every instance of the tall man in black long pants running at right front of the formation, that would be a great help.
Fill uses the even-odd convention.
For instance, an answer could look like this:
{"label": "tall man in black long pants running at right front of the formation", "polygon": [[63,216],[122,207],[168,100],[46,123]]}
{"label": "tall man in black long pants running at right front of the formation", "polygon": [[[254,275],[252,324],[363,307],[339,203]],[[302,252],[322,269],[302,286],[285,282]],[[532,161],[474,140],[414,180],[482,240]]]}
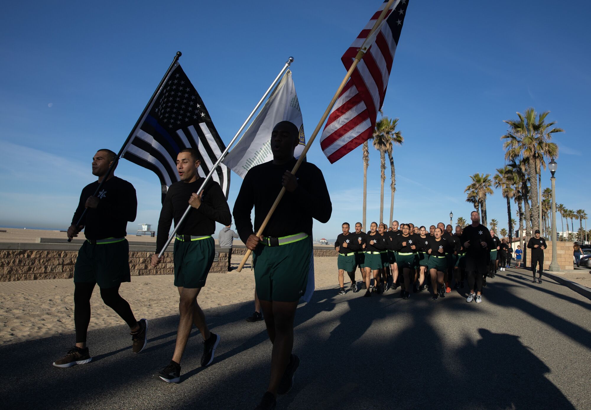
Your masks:
{"label": "tall man in black long pants running at right front of the formation", "polygon": [[[480,224],[478,211],[472,211],[470,219],[472,224],[464,228],[461,236],[461,242],[466,250],[466,271],[470,286],[466,302],[476,299],[476,303],[480,303],[482,302],[482,279],[486,275],[486,265],[491,258],[489,250],[492,248],[493,242],[486,226]],[[474,287],[475,282],[476,288]]]}

